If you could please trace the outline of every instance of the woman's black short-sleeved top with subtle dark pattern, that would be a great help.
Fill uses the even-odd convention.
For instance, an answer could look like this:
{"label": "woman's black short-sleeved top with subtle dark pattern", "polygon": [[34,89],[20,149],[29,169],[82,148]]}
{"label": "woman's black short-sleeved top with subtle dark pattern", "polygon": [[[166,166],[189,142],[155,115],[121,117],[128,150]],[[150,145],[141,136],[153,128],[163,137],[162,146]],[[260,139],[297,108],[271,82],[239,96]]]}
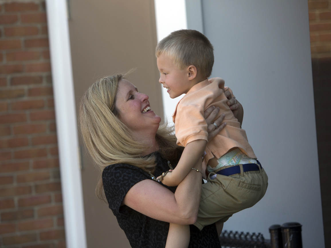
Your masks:
{"label": "woman's black short-sleeved top with subtle dark pattern", "polygon": [[[157,158],[157,167],[154,175],[161,175],[162,172],[169,169],[167,160],[163,159],[158,152],[153,154]],[[169,223],[150,218],[126,205],[121,206],[128,190],[145,179],[151,179],[151,176],[142,169],[129,164],[109,165],[102,173],[102,181],[109,208],[116,216],[120,228],[124,230],[131,247],[165,247]],[[176,190],[176,187],[163,186],[172,192]],[[202,231],[190,225],[190,231],[189,247],[220,247],[214,224],[206,226]]]}

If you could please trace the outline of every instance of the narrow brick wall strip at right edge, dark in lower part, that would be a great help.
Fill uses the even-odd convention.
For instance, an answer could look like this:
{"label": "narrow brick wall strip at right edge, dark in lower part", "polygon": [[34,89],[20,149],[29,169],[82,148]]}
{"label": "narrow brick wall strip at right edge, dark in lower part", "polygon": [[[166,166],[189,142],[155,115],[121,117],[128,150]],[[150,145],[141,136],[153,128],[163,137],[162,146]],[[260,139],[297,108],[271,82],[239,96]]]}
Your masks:
{"label": "narrow brick wall strip at right edge, dark in lower part", "polygon": [[311,62],[315,99],[318,163],[322,196],[325,247],[331,247],[331,0],[308,1]]}

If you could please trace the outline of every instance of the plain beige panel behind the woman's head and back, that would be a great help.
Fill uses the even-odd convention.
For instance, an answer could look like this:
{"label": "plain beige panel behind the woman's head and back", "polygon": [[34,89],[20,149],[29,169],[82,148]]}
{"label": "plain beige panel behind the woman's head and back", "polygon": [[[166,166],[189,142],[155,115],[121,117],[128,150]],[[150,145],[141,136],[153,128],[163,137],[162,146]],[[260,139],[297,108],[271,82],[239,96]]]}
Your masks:
{"label": "plain beige panel behind the woman's head and back", "polygon": [[[154,55],[157,44],[153,0],[71,0],[69,20],[76,102],[98,78],[137,68],[129,80],[150,96],[163,116]],[[129,247],[108,204],[94,194],[99,172],[82,147],[82,182],[88,247]]]}

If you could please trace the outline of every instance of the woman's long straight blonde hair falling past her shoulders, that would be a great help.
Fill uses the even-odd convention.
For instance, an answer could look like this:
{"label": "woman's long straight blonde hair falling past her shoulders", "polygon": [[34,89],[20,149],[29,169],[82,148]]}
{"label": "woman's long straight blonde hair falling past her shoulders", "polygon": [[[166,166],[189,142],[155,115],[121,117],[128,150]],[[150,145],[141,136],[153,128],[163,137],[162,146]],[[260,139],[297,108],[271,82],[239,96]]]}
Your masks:
{"label": "woman's long straight blonde hair falling past her shoulders", "polygon": [[[118,83],[127,74],[115,74],[99,79],[83,94],[78,113],[78,122],[85,146],[101,173],[103,169],[116,163],[127,163],[145,171],[155,170],[153,156],[142,156],[146,145],[133,139],[132,132],[118,119],[115,106]],[[161,124],[156,140],[159,152],[168,160],[177,159],[181,147],[176,145],[173,128]],[[96,195],[103,197],[100,175]]]}

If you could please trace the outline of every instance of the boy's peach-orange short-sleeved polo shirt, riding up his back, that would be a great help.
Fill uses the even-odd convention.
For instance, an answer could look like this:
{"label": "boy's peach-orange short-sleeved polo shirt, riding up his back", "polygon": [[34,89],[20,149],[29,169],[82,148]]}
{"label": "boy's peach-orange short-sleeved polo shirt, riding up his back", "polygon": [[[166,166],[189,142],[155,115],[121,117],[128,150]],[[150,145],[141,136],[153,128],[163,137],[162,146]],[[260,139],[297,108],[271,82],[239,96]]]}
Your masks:
{"label": "boy's peach-orange short-sleeved polo shirt, riding up his back", "polygon": [[[238,147],[248,157],[256,159],[254,151],[248,143],[246,132],[240,128],[240,123],[234,117],[228,99],[220,88],[223,82],[209,83],[204,80],[193,86],[177,103],[172,120],[175,123],[177,145],[186,146],[188,143],[204,139],[208,142],[207,123],[204,111],[210,106],[219,107],[219,117],[225,114],[225,127],[207,144],[204,161],[226,154],[230,149]],[[229,89],[232,94],[232,90]]]}

